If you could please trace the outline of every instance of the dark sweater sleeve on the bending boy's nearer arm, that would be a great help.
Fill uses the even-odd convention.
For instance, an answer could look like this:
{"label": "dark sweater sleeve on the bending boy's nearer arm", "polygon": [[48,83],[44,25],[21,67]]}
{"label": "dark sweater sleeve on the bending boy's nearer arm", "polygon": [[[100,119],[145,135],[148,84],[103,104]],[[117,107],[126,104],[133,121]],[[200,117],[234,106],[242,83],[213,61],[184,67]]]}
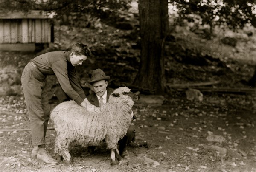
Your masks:
{"label": "dark sweater sleeve on the bending boy's nearer arm", "polygon": [[79,93],[77,93],[70,85],[70,80],[67,72],[67,62],[65,60],[59,60],[53,63],[51,68],[57,76],[58,82],[60,83],[62,90],[77,104],[81,104],[84,99],[82,99]]}

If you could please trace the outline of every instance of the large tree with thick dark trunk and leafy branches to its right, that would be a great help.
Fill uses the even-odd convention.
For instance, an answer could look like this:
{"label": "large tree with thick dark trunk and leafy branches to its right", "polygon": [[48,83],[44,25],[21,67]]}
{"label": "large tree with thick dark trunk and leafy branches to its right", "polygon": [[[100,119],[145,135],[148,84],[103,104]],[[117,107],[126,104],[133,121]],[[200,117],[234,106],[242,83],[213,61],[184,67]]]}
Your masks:
{"label": "large tree with thick dark trunk and leafy branches to its right", "polygon": [[233,29],[246,23],[256,26],[255,0],[140,0],[141,61],[134,85],[155,94],[163,93],[166,86],[163,52],[168,3],[178,9],[182,20],[196,14],[211,28],[223,24]]}

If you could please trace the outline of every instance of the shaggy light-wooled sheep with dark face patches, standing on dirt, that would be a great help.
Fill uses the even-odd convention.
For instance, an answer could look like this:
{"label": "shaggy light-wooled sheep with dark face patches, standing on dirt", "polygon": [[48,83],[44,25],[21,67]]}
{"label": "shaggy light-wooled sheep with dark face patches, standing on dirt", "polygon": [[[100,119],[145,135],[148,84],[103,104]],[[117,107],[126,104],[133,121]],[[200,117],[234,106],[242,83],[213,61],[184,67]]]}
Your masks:
{"label": "shaggy light-wooled sheep with dark face patches, standing on dirt", "polygon": [[118,160],[122,158],[117,143],[127,133],[131,108],[137,100],[138,96],[128,87],[120,87],[113,91],[109,103],[104,104],[100,113],[86,111],[73,100],[56,106],[51,112],[57,131],[55,157],[61,160],[62,156],[67,164],[71,164],[68,151],[71,142],[87,147],[100,146],[105,141],[107,148],[111,149],[111,166],[116,165],[115,156]]}

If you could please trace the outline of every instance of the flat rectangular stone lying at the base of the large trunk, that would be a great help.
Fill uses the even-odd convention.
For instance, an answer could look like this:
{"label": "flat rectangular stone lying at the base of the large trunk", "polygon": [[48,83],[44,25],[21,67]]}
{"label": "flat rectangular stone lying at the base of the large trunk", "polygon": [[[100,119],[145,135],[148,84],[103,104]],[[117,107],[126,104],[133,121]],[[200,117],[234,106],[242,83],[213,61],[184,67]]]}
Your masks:
{"label": "flat rectangular stone lying at the base of the large trunk", "polygon": [[136,102],[137,104],[155,104],[155,105],[162,105],[164,101],[163,96],[157,96],[157,95],[140,95],[139,100]]}

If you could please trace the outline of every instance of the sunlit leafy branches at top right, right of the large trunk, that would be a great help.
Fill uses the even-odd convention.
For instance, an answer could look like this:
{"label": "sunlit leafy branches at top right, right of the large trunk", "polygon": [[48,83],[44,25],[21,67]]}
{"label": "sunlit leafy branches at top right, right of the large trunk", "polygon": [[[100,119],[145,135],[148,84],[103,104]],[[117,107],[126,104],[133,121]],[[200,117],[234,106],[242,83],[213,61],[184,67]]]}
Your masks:
{"label": "sunlit leafy branches at top right, right of the large trunk", "polygon": [[246,23],[256,27],[255,0],[169,0],[180,18],[194,20],[201,17],[202,25],[225,25],[231,29],[243,28]]}

